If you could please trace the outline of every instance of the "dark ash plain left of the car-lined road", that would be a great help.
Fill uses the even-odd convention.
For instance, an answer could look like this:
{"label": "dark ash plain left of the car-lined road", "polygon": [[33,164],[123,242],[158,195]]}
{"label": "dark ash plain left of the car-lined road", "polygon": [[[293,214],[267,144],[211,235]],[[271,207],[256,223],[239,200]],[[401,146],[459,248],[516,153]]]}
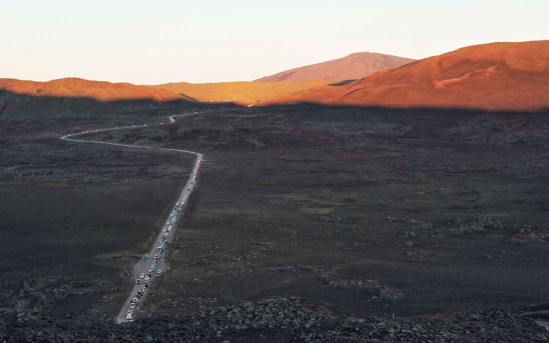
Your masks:
{"label": "dark ash plain left of the car-lined road", "polygon": [[143,122],[138,113],[2,122],[1,257],[10,275],[1,280],[3,322],[21,311],[103,316],[111,311],[105,299],[124,295],[126,268],[148,248],[192,156],[59,137],[132,120]]}

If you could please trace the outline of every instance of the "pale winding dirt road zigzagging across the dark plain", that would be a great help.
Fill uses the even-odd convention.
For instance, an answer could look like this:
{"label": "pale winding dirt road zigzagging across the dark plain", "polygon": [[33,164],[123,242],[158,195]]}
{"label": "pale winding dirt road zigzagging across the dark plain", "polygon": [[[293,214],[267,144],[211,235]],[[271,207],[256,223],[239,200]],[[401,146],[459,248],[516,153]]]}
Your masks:
{"label": "pale winding dirt road zigzagging across the dark plain", "polygon": [[[181,193],[177,196],[177,199],[172,204],[173,206],[175,206],[176,203],[180,203],[180,204],[182,202],[184,203],[184,200],[193,191],[193,189],[194,189],[193,186],[198,183],[198,179],[195,178],[193,180],[193,176],[198,175],[198,168],[200,167],[200,161],[202,160],[203,154],[197,153],[195,151],[190,151],[190,150],[146,147],[144,145],[128,145],[128,144],[119,144],[119,143],[97,142],[96,140],[72,139],[72,138],[69,138],[69,137],[78,136],[79,134],[83,134],[83,133],[102,132],[102,131],[110,131],[110,130],[122,130],[122,129],[127,129],[127,128],[136,128],[136,127],[144,127],[144,126],[168,125],[168,124],[171,124],[171,123],[175,122],[174,117],[188,116],[188,115],[193,115],[193,114],[197,114],[197,113],[201,113],[201,112],[173,115],[173,116],[169,117],[170,122],[167,122],[167,123],[104,128],[104,129],[99,129],[99,130],[94,130],[94,131],[85,131],[85,132],[79,132],[79,133],[66,134],[63,137],[60,137],[60,139],[72,140],[74,142],[88,142],[88,143],[99,143],[99,144],[109,144],[109,145],[120,145],[121,147],[131,147],[131,148],[171,150],[171,151],[178,151],[180,153],[188,153],[188,154],[196,155],[197,158],[194,161],[195,168],[193,170],[193,175],[191,177],[189,177],[189,179],[187,180],[187,183],[184,185],[183,189],[181,190]],[[185,211],[182,209],[181,212],[184,214]],[[174,218],[172,218],[171,216],[168,217],[168,218],[165,218],[165,222],[166,222],[166,224],[170,223],[173,226],[172,231],[177,229],[176,220]],[[164,225],[162,227],[164,227]],[[151,250],[148,252],[148,256],[151,257],[150,259],[149,258],[147,258],[147,259],[142,258],[141,260],[137,261],[135,263],[135,265],[133,265],[132,270],[130,272],[130,277],[132,278],[133,286],[132,286],[132,289],[131,289],[130,293],[126,297],[126,300],[124,301],[124,304],[122,305],[120,312],[116,315],[116,319],[115,319],[116,323],[124,323],[124,322],[127,322],[128,320],[133,320],[133,319],[135,319],[136,314],[138,314],[138,310],[139,310],[138,306],[139,305],[138,305],[138,303],[136,303],[135,304],[135,310],[134,310],[135,312],[133,313],[132,319],[127,319],[126,318],[126,314],[127,314],[128,309],[130,308],[130,304],[132,303],[132,299],[135,297],[135,295],[138,293],[139,289],[141,288],[141,285],[136,284],[133,280],[140,279],[139,275],[141,273],[147,274],[148,269],[150,268],[148,265],[150,265],[150,261],[152,261],[152,257],[156,254],[156,249],[160,246],[161,241],[166,240],[167,244],[165,245],[165,249],[163,250],[164,254],[160,254],[160,256],[165,255],[165,252],[167,250],[169,250],[170,238],[163,239],[165,234],[166,234],[166,232],[163,232],[163,230],[160,230],[158,235],[156,235],[156,237],[154,238]],[[158,269],[160,269],[162,271],[162,273],[160,273],[160,274],[156,273],[156,271],[158,271]],[[156,262],[156,265],[154,266],[154,272],[150,273],[150,279],[148,280],[147,286],[152,284],[152,282],[154,282],[154,279],[156,277],[158,277],[159,275],[163,275],[167,269],[168,269],[168,266],[167,266],[166,260],[164,259],[164,261],[163,261],[163,259],[161,257],[158,258],[157,262]],[[145,291],[143,291],[143,293],[141,294],[141,298],[139,299],[139,301],[142,301],[143,298],[146,295],[147,295],[147,291],[145,289]]]}

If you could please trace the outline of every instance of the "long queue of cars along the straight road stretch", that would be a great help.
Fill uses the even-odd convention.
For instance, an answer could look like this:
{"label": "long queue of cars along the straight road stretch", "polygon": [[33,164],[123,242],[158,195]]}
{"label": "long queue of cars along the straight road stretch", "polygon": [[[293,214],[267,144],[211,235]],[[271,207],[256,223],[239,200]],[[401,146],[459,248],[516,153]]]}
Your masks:
{"label": "long queue of cars along the straight road stretch", "polygon": [[[193,180],[197,178],[198,175],[198,167],[200,166],[200,161],[197,161],[196,167],[193,169]],[[193,186],[193,183],[191,182],[189,184],[189,187],[187,190],[191,190]],[[160,255],[164,252],[164,247],[167,244],[167,239],[170,237],[170,231],[173,229],[173,225],[175,224],[175,221],[177,220],[177,217],[181,213],[181,210],[183,209],[183,206],[185,206],[185,201],[187,200],[187,195],[183,195],[183,198],[181,198],[180,203],[176,203],[175,207],[173,207],[170,215],[168,216],[168,220],[166,221],[166,224],[162,228],[162,240],[160,241],[160,246],[156,248],[156,252],[152,258],[152,261],[150,261],[150,266],[147,270],[147,273],[141,273],[139,274],[139,279],[136,280],[136,284],[140,284],[141,287],[137,291],[137,294],[133,297],[133,299],[130,302],[130,308],[128,308],[126,319],[131,320],[133,317],[133,312],[136,310],[137,303],[141,297],[143,297],[143,294],[145,292],[145,289],[148,287],[149,280],[151,278],[151,275],[153,273],[161,274],[161,269],[156,269],[155,272],[155,266],[156,263],[158,263],[158,260],[160,259]],[[147,260],[149,258],[148,255],[143,256],[144,260]]]}

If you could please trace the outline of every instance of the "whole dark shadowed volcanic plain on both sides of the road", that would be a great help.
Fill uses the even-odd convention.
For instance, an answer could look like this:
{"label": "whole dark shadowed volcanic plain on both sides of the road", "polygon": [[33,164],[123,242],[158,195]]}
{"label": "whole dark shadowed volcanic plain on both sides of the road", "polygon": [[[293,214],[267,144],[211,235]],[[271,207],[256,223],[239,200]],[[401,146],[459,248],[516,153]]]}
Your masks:
{"label": "whole dark shadowed volcanic plain on both sides of the road", "polygon": [[169,272],[115,325],[192,159],[58,137],[192,111],[2,122],[0,339],[549,336],[508,313],[548,309],[547,113],[306,104],[82,137],[205,154]]}

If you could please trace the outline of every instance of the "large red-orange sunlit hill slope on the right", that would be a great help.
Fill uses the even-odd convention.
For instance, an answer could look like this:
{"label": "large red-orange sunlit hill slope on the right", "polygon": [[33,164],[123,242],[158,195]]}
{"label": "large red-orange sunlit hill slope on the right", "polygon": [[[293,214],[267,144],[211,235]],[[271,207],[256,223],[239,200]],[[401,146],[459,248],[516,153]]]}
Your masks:
{"label": "large red-orange sunlit hill slope on the right", "polygon": [[549,108],[549,40],[497,42],[382,70],[344,86],[318,86],[258,105],[294,102],[488,110]]}

